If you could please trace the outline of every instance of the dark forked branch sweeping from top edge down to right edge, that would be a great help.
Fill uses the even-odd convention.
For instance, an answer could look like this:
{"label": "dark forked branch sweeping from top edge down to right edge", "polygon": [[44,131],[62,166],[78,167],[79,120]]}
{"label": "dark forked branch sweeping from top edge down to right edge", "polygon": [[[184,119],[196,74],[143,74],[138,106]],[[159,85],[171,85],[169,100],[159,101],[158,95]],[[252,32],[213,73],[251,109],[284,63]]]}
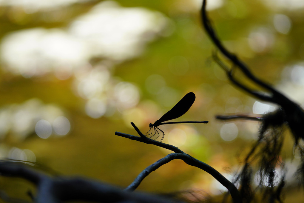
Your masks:
{"label": "dark forked branch sweeping from top edge down to right edge", "polygon": [[[243,61],[241,61],[235,54],[230,53],[222,44],[222,42],[219,40],[218,36],[216,35],[210,20],[207,16],[206,12],[206,0],[203,0],[202,4],[202,24],[204,26],[204,29],[206,30],[208,36],[212,40],[212,42],[215,44],[215,46],[219,49],[219,51],[232,62],[232,68],[228,68],[217,56],[216,52],[214,52],[213,59],[216,61],[216,63],[223,68],[223,70],[226,72],[228,78],[230,81],[237,87],[243,89],[250,95],[263,100],[267,102],[271,102],[274,104],[277,104],[281,107],[282,111],[285,114],[285,117],[282,117],[284,119],[281,123],[284,123],[285,121],[288,123],[289,128],[292,131],[292,134],[295,138],[295,144],[298,142],[299,138],[304,138],[303,130],[301,126],[304,123],[304,111],[303,109],[290,99],[288,99],[286,96],[284,96],[282,93],[280,93],[278,90],[273,88],[271,85],[268,85],[267,83],[261,81],[256,76],[254,76],[249,68],[244,64]],[[266,90],[265,92],[257,91],[254,89],[251,89],[247,87],[244,83],[237,80],[234,76],[234,72],[236,69],[239,69],[242,73],[244,73],[245,78],[249,81],[253,82],[257,86],[261,87],[262,89]],[[278,112],[280,113],[280,112]]]}

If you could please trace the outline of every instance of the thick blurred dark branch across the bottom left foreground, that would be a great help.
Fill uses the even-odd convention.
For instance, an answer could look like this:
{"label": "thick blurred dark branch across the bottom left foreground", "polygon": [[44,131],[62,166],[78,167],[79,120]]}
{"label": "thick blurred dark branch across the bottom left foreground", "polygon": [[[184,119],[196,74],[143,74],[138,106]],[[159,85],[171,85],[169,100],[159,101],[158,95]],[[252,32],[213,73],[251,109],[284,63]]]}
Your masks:
{"label": "thick blurred dark branch across the bottom left foreground", "polygon": [[[130,202],[130,203],[173,203],[157,195],[146,193],[130,193],[119,187],[103,184],[95,180],[81,177],[52,177],[24,163],[1,161],[2,176],[19,177],[33,183],[37,187],[36,203],[59,203],[62,201],[94,201],[94,202]],[[3,196],[3,194],[1,194]],[[6,197],[8,200],[14,200]],[[15,202],[22,202],[16,200]]]}

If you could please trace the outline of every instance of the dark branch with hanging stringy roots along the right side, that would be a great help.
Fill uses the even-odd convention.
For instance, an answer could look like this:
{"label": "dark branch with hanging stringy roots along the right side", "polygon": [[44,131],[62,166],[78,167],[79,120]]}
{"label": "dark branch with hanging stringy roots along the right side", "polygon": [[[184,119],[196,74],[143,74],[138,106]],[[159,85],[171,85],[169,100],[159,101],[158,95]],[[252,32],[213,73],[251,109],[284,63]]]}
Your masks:
{"label": "dark branch with hanging stringy roots along the right side", "polygon": [[[284,161],[280,159],[285,138],[283,132],[287,126],[294,137],[295,147],[298,147],[302,153],[303,149],[298,143],[299,139],[304,138],[303,129],[301,129],[301,126],[304,123],[304,111],[297,103],[294,103],[274,87],[254,76],[247,65],[245,65],[237,55],[230,53],[223,46],[207,16],[206,0],[203,1],[201,11],[204,29],[220,53],[228,58],[231,63],[231,68],[219,59],[216,52],[213,53],[213,59],[221,68],[223,68],[232,84],[259,100],[279,106],[274,112],[267,113],[262,117],[253,118],[240,115],[217,117],[221,120],[231,118],[250,119],[261,122],[258,139],[244,159],[243,169],[235,180],[235,183],[240,183],[240,195],[242,200],[243,202],[253,202],[255,200],[255,194],[260,190],[263,193],[264,202],[282,202],[282,188],[285,185],[285,172],[280,177],[280,180],[277,180],[276,177],[278,174],[276,174],[276,169],[281,168],[281,170],[284,171]],[[242,81],[245,79],[252,82],[263,91],[252,89],[245,85],[244,82],[241,82],[240,79],[236,78],[236,71],[243,73],[244,77],[242,78]],[[299,180],[301,181],[301,184],[303,184],[303,157],[301,161],[302,164],[300,164],[296,175],[299,176]],[[255,172],[255,170],[252,169],[253,166],[255,166],[255,170],[257,170],[260,178],[259,185],[256,189],[253,189],[252,186]]]}

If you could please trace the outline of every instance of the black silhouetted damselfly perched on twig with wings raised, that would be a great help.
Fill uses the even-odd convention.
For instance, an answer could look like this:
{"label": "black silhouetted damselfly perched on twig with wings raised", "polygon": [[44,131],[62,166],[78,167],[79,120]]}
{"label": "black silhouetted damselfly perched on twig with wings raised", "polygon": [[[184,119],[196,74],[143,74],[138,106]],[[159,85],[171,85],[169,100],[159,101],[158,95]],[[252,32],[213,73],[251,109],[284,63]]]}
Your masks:
{"label": "black silhouetted damselfly perched on twig with wings raised", "polygon": [[[158,128],[158,126],[160,125],[175,124],[175,123],[208,123],[209,121],[179,121],[179,122],[163,123],[164,121],[169,121],[184,115],[190,109],[194,100],[195,100],[195,94],[193,92],[189,92],[188,94],[186,94],[177,104],[175,104],[175,106],[171,110],[165,113],[160,119],[155,121],[154,124],[152,123],[149,124],[150,130],[145,134],[145,136],[151,135],[149,138],[152,138],[153,136],[157,136],[155,138],[157,139],[160,136],[159,132],[157,131],[158,129],[163,133],[163,136],[161,138],[161,141],[163,141],[165,133]],[[153,133],[153,129],[154,129],[154,133]]]}

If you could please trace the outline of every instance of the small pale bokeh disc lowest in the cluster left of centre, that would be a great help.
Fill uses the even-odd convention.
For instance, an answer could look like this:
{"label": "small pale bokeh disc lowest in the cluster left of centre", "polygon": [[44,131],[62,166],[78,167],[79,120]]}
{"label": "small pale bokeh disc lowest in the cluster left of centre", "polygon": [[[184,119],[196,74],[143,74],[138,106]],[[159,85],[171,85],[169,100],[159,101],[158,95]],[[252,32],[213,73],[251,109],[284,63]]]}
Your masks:
{"label": "small pale bokeh disc lowest in the cluster left of centre", "polygon": [[93,98],[85,104],[85,113],[91,118],[100,118],[105,114],[107,106],[103,100]]}

